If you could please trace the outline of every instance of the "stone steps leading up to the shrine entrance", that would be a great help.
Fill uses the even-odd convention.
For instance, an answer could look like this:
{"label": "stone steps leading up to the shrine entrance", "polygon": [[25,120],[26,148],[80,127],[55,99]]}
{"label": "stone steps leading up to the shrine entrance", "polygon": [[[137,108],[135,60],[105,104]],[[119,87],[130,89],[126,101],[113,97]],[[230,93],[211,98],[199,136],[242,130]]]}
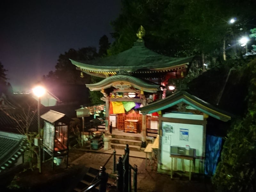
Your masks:
{"label": "stone steps leading up to the shrine entrance", "polygon": [[111,148],[124,149],[125,145],[128,144],[130,150],[140,151],[141,147],[141,136],[140,134],[124,133],[120,134],[111,134]]}

